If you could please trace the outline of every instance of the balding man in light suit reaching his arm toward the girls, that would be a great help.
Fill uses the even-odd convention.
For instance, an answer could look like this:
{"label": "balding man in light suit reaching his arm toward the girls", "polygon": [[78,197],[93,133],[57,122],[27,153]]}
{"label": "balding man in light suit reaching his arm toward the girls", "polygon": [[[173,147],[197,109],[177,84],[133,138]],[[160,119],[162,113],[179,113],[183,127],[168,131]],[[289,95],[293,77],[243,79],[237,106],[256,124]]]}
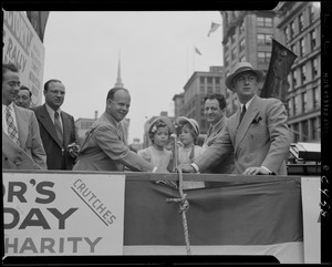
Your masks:
{"label": "balding man in light suit reaching his arm toward the girls", "polygon": [[136,172],[155,172],[157,168],[127,146],[123,119],[131,106],[129,92],[113,88],[106,97],[106,110],[92,124],[82,143],[74,171],[118,171],[128,167]]}

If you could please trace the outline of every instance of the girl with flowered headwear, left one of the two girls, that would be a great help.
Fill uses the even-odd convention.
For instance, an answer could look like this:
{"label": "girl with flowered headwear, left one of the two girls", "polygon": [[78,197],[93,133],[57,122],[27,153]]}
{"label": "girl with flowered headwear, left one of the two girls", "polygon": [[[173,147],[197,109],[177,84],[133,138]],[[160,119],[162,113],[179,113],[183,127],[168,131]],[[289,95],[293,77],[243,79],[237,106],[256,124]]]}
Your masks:
{"label": "girl with flowered headwear, left one of the two girls", "polygon": [[170,121],[168,122],[167,117],[157,117],[154,120],[148,129],[152,145],[137,152],[145,161],[151,162],[160,172],[165,173],[170,172],[169,161],[172,152],[165,148],[172,134],[169,125],[172,123]]}

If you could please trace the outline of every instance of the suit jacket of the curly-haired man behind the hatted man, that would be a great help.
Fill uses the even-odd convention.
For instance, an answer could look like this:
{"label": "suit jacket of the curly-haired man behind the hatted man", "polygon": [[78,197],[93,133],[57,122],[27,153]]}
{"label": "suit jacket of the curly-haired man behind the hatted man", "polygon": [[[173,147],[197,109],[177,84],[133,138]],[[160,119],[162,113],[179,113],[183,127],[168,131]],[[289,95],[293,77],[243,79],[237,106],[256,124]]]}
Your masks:
{"label": "suit jacket of the curly-haired man behind the hatted man", "polygon": [[[228,119],[222,116],[219,122],[212,129],[212,132],[209,136],[206,136],[203,148],[207,150],[211,146],[218,138],[220,134],[222,134],[222,130],[227,125]],[[224,162],[216,162],[212,166],[209,167],[206,172],[210,173],[221,173],[221,174],[231,174],[235,172],[235,163],[234,163],[234,151],[230,152],[229,156]]]}

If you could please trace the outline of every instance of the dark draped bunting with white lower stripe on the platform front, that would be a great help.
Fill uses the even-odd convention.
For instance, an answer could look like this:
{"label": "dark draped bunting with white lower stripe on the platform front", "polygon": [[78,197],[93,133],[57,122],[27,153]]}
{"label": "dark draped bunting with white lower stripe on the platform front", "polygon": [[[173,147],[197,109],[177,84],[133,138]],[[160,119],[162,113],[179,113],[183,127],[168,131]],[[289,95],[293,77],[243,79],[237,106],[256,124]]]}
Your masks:
{"label": "dark draped bunting with white lower stripe on the platform front", "polygon": [[[300,177],[231,176],[217,183],[187,191],[191,255],[272,255],[280,263],[304,261]],[[186,255],[179,205],[166,202],[178,196],[177,189],[151,176],[127,179],[125,255]]]}

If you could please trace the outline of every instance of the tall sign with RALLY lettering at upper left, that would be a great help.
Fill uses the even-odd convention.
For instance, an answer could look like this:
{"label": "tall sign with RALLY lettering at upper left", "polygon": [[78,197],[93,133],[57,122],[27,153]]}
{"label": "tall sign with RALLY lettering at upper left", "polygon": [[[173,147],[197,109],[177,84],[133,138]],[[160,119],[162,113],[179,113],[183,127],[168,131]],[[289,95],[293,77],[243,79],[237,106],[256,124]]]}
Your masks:
{"label": "tall sign with RALLY lettering at upper left", "polygon": [[32,93],[31,105],[42,103],[44,47],[24,12],[3,11],[2,63],[20,69],[21,85]]}

